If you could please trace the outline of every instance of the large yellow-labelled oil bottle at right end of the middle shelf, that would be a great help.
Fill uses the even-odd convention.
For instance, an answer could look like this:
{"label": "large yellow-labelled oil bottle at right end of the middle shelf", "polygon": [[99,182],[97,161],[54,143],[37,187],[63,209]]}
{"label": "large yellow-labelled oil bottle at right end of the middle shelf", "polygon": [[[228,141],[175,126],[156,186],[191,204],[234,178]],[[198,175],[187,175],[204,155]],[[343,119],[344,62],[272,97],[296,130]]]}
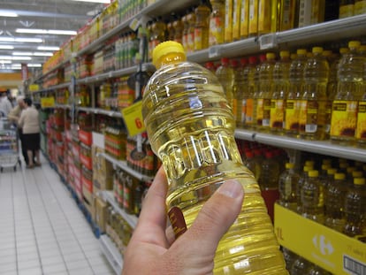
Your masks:
{"label": "large yellow-labelled oil bottle at right end of the middle shelf", "polygon": [[363,88],[363,64],[358,53],[360,42],[348,43],[349,53],[339,61],[337,94],[332,103],[331,139],[340,144],[355,141],[357,107]]}

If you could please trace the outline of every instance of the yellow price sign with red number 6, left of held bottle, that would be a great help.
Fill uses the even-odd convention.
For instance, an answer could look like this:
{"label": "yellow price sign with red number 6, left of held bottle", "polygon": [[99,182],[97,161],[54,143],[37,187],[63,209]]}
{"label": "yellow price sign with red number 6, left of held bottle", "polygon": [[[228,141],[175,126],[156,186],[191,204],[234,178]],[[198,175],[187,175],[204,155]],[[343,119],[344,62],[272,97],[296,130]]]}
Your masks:
{"label": "yellow price sign with red number 6, left of held bottle", "polygon": [[122,117],[125,119],[128,134],[131,136],[145,132],[141,110],[142,102],[139,101],[121,111]]}

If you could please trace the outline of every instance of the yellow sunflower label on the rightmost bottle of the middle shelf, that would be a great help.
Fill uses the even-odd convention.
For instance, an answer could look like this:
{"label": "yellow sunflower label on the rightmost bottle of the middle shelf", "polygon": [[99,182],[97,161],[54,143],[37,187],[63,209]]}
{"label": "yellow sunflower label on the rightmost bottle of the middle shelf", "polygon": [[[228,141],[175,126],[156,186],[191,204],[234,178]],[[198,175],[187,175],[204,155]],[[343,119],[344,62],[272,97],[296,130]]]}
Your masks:
{"label": "yellow sunflower label on the rightmost bottle of the middle shelf", "polygon": [[334,101],[332,105],[332,136],[355,136],[357,119],[356,101]]}

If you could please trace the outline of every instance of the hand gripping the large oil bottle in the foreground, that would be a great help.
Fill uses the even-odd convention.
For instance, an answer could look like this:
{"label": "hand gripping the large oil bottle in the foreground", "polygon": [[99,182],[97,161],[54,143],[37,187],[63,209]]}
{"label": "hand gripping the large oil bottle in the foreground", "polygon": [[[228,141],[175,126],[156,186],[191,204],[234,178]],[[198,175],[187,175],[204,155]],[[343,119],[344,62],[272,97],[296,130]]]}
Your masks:
{"label": "hand gripping the large oil bottle in the foreground", "polygon": [[212,274],[217,243],[240,213],[243,188],[238,181],[227,180],[178,240],[172,237],[172,227],[166,230],[166,193],[167,180],[161,168],[143,202],[122,274]]}

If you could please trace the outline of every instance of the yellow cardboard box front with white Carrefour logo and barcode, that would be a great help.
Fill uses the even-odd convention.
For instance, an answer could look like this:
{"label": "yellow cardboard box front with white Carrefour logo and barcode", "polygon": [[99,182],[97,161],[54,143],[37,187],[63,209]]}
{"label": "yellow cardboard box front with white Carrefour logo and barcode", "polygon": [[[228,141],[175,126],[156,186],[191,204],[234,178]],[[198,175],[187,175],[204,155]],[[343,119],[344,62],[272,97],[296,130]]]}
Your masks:
{"label": "yellow cardboard box front with white Carrefour logo and barcode", "polygon": [[333,274],[363,274],[366,243],[303,218],[275,204],[275,233],[280,245]]}

